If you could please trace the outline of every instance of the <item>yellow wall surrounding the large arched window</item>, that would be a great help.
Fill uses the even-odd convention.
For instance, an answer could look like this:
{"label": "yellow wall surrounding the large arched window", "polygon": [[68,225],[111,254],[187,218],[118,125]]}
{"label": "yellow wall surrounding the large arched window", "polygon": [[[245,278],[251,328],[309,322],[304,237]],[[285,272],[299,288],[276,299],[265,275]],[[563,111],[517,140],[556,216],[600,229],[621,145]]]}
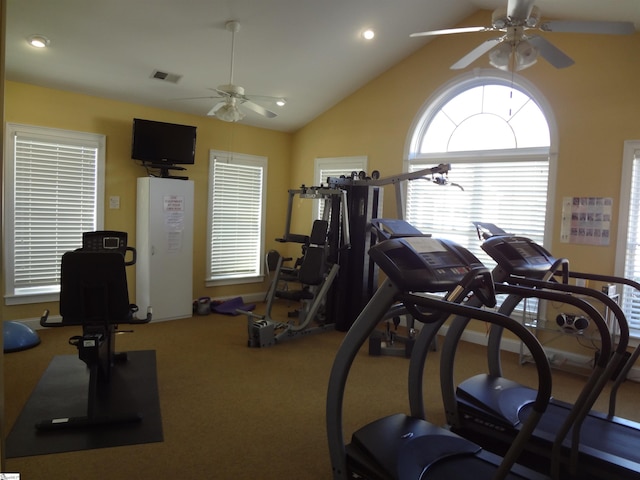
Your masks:
{"label": "yellow wall surrounding the large arched window", "polygon": [[[463,24],[483,24],[487,18],[482,12]],[[489,68],[486,58],[462,72],[448,67],[491,37],[495,34],[439,37],[309,123],[293,140],[294,184],[303,181],[315,157],[368,155],[369,170],[380,170],[383,177],[400,173],[411,123],[424,102],[456,76]],[[554,255],[569,258],[575,270],[612,274],[623,142],[640,138],[640,33],[547,38],[575,64],[557,70],[539,60],[519,74],[542,92],[557,122],[558,174],[549,247]],[[450,178],[455,181],[455,169]],[[614,198],[610,246],[559,242],[563,196]],[[392,197],[392,191],[385,191],[385,215],[395,214]]]}

